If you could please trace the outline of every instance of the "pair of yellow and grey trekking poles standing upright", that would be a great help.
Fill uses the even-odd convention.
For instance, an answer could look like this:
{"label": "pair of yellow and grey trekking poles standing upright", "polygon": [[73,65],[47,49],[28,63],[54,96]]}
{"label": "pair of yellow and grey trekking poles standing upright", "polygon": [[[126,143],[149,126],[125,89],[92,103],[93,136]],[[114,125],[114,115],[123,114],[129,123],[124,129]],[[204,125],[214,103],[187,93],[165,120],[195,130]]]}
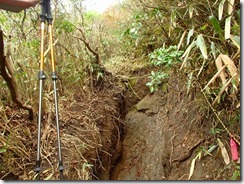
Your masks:
{"label": "pair of yellow and grey trekking poles standing upright", "polygon": [[55,116],[56,116],[56,128],[57,128],[57,142],[58,142],[58,159],[59,159],[59,172],[60,179],[63,180],[63,161],[61,154],[61,140],[60,140],[60,131],[59,131],[59,114],[58,114],[58,97],[57,97],[57,88],[56,81],[58,79],[55,71],[55,61],[54,61],[54,51],[53,51],[53,36],[52,36],[52,15],[51,15],[51,3],[50,0],[42,0],[41,2],[42,11],[40,14],[41,18],[41,61],[40,61],[40,70],[38,72],[39,79],[39,110],[38,110],[38,135],[37,135],[37,157],[36,157],[36,168],[35,172],[37,173],[37,179],[40,179],[41,171],[41,160],[40,160],[40,149],[41,149],[41,116],[42,116],[42,93],[43,93],[43,81],[46,79],[44,73],[44,30],[45,22],[48,23],[48,33],[49,33],[49,46],[50,46],[50,59],[52,65],[52,81],[53,81],[53,90],[54,90],[54,101],[55,101]]}

